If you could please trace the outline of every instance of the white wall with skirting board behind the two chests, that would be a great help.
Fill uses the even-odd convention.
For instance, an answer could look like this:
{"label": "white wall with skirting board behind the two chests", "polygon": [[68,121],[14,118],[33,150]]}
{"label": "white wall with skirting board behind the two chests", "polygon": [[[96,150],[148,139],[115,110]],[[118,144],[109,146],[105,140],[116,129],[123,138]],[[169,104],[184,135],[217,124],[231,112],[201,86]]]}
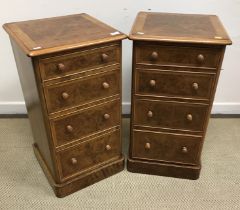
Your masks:
{"label": "white wall with skirting board behind the two chests", "polygon": [[[223,71],[213,113],[240,114],[240,0],[8,0],[0,3],[0,23],[88,13],[128,34],[138,11],[216,14],[228,31]],[[131,49],[123,42],[123,113],[130,110]],[[0,114],[25,113],[24,99],[7,34],[0,29]]]}

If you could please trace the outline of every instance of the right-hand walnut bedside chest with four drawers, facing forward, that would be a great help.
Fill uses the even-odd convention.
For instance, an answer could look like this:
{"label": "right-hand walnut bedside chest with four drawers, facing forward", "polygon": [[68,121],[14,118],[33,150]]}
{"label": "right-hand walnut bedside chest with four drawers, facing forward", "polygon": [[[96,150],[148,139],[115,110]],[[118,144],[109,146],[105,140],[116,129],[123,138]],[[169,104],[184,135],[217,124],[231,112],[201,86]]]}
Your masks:
{"label": "right-hand walnut bedside chest with four drawers, facing forward", "polygon": [[231,44],[214,15],[140,12],[133,40],[128,170],[197,179],[221,70]]}

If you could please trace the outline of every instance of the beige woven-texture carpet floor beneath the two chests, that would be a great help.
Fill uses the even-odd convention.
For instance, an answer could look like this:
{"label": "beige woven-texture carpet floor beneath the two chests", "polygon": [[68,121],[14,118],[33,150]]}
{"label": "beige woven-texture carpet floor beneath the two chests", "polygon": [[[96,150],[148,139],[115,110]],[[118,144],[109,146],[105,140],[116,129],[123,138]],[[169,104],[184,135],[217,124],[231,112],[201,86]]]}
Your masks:
{"label": "beige woven-texture carpet floor beneath the two chests", "polygon": [[[124,152],[129,120],[124,119]],[[124,170],[56,198],[32,150],[28,119],[0,119],[0,209],[240,209],[240,119],[211,119],[196,181]]]}

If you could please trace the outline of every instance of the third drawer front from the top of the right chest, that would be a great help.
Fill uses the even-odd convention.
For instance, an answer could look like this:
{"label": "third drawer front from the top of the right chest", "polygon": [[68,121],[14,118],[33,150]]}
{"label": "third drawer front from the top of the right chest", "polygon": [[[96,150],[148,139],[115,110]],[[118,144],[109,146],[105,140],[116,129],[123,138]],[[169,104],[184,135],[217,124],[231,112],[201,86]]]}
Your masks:
{"label": "third drawer front from the top of the right chest", "polygon": [[134,124],[203,131],[208,105],[155,100],[135,100]]}

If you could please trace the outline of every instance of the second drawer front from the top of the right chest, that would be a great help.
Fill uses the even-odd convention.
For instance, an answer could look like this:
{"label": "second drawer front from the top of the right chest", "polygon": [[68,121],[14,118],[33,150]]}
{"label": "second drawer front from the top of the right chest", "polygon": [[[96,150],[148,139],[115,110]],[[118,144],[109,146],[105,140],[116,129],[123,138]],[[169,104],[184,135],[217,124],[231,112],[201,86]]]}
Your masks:
{"label": "second drawer front from the top of the right chest", "polygon": [[215,74],[136,70],[136,93],[209,99]]}

